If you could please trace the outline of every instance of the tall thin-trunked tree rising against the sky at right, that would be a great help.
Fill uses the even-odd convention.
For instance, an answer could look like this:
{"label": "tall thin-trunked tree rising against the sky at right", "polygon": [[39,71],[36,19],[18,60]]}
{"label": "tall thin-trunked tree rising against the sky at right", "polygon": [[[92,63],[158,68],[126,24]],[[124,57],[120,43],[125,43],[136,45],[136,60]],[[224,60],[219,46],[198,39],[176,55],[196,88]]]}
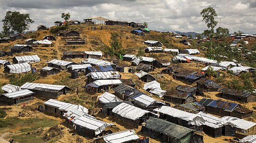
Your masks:
{"label": "tall thin-trunked tree rising against the sky at right", "polygon": [[207,7],[202,9],[201,13],[202,21],[206,23],[206,26],[210,28],[210,42],[212,49],[212,38],[214,33],[214,27],[217,26],[218,21],[215,20],[217,13],[213,7]]}

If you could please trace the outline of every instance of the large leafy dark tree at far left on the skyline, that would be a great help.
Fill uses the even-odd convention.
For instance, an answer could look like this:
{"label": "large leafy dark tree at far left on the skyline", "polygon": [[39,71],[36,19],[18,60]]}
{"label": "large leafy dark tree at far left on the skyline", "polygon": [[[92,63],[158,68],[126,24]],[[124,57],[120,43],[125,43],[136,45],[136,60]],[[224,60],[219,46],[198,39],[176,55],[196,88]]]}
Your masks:
{"label": "large leafy dark tree at far left on the skyline", "polygon": [[3,22],[3,35],[11,35],[14,32],[23,32],[24,30],[29,29],[29,24],[34,23],[33,20],[30,19],[29,13],[21,14],[20,12],[11,12],[7,11],[5,19]]}

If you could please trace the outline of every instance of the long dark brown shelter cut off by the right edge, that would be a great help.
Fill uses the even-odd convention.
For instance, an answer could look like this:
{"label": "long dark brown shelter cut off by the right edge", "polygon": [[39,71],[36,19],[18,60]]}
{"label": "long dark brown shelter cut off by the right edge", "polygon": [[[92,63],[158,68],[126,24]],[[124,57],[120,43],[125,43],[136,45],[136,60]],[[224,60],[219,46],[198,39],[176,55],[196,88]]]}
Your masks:
{"label": "long dark brown shelter cut off by the right edge", "polygon": [[237,91],[228,88],[222,88],[219,90],[219,97],[234,100],[234,101],[243,101],[243,102],[255,102],[256,94],[248,91]]}

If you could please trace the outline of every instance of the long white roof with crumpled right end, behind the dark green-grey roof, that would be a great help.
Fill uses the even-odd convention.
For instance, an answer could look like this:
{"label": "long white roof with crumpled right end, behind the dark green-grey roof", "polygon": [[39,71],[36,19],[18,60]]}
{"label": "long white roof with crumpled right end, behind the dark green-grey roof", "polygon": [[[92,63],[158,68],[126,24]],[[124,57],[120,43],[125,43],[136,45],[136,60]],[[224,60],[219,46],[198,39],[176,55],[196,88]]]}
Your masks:
{"label": "long white roof with crumpled right end, behind the dark green-grey roof", "polygon": [[206,122],[205,119],[203,119],[200,115],[178,110],[169,106],[162,106],[161,108],[154,109],[154,111],[180,118],[182,120],[188,121],[188,124],[196,126],[201,126]]}

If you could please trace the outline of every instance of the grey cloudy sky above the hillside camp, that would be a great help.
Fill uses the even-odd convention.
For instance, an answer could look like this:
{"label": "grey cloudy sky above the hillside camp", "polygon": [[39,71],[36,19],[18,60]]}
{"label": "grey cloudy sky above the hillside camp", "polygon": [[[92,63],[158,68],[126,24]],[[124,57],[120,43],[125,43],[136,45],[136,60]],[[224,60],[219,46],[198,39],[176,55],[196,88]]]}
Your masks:
{"label": "grey cloudy sky above the hillside camp", "polygon": [[[241,2],[243,1],[243,2]],[[0,20],[7,11],[30,13],[30,30],[53,26],[69,12],[71,20],[103,16],[111,20],[148,22],[158,31],[203,32],[207,29],[200,12],[214,7],[221,26],[230,32],[256,34],[256,0],[0,0]],[[219,26],[219,24],[218,24]],[[0,30],[2,22],[0,22]]]}

